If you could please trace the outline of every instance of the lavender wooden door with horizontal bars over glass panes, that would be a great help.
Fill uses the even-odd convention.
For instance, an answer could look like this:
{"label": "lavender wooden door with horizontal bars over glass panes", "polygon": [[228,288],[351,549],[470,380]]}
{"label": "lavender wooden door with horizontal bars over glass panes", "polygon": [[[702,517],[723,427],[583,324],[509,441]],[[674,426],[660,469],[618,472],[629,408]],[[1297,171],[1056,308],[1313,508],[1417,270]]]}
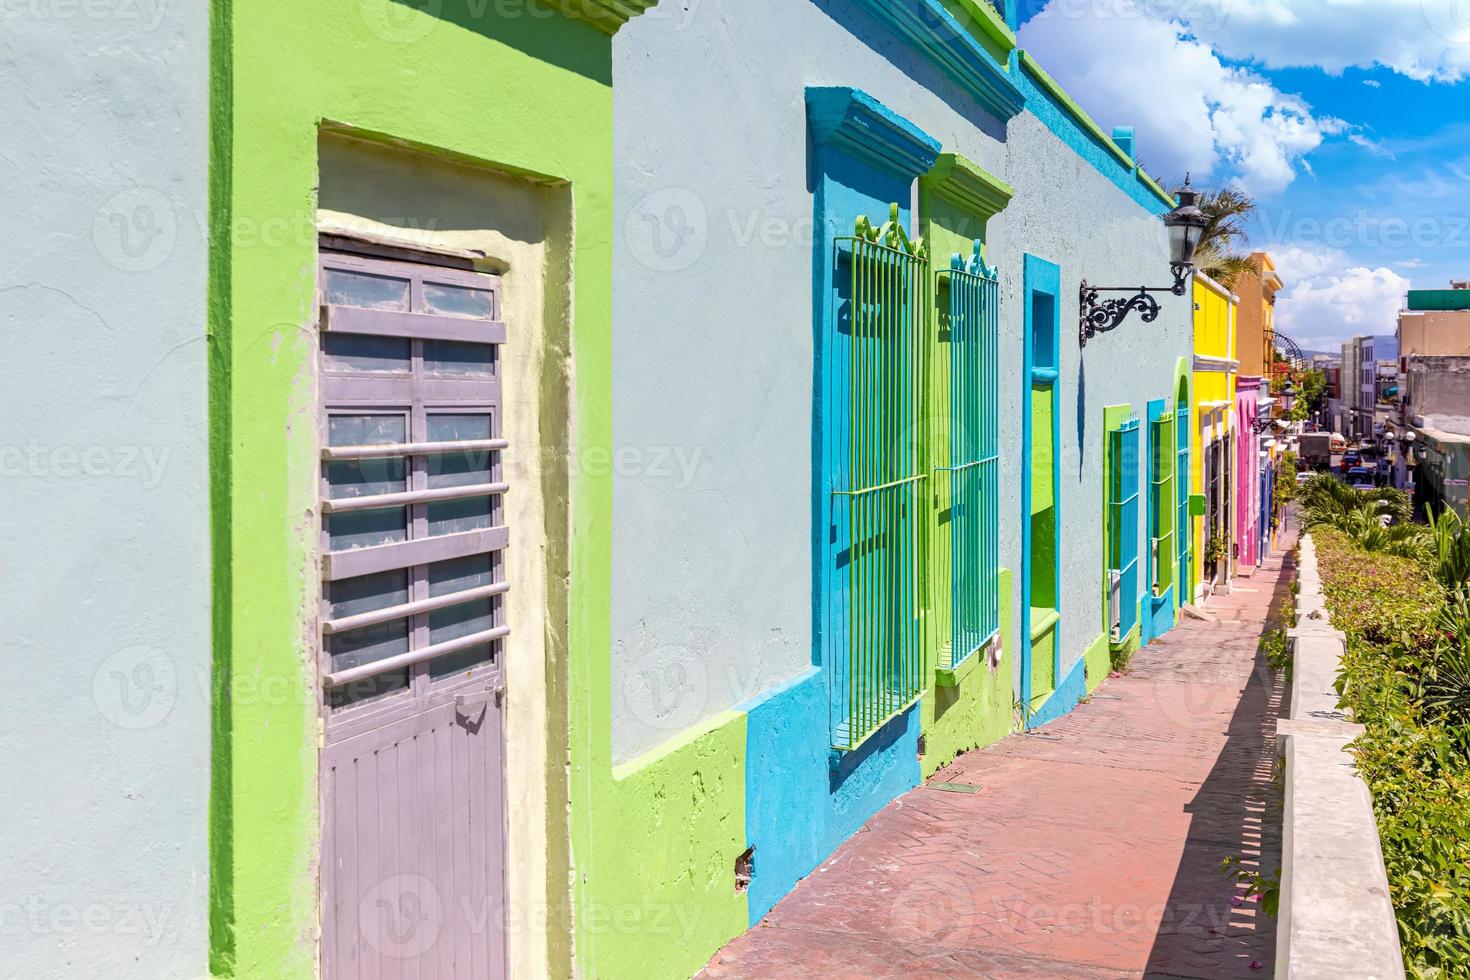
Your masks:
{"label": "lavender wooden door with horizontal bars over glass panes", "polygon": [[500,281],[323,251],[320,298],[322,974],[503,977]]}

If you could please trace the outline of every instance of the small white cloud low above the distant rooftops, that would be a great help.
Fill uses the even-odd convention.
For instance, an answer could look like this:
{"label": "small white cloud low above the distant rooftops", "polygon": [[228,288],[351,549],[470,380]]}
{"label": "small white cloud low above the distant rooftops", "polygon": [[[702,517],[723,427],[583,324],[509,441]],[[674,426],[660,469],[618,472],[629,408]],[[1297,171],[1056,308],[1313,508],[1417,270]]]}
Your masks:
{"label": "small white cloud low above the distant rooftops", "polygon": [[1392,269],[1352,264],[1336,248],[1289,245],[1272,257],[1286,282],[1276,323],[1302,347],[1332,351],[1360,334],[1394,332],[1410,281]]}

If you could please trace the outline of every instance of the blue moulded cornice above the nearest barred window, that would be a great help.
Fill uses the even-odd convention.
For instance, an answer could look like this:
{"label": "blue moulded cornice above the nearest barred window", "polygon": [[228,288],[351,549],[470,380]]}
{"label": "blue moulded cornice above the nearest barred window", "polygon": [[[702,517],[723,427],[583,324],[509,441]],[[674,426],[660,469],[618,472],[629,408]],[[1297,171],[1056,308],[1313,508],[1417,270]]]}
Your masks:
{"label": "blue moulded cornice above the nearest barred window", "polygon": [[816,143],[910,178],[939,156],[938,140],[860,88],[808,88],[807,125]]}

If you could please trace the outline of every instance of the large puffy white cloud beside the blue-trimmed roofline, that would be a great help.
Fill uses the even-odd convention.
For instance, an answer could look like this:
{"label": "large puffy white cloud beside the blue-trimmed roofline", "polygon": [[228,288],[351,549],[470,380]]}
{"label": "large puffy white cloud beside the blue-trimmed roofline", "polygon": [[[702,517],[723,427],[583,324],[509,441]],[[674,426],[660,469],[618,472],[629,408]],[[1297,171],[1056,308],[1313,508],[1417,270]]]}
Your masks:
{"label": "large puffy white cloud beside the blue-trimmed roofline", "polygon": [[1082,16],[1075,1],[1051,0],[1020,43],[1104,126],[1135,125],[1139,159],[1157,175],[1191,170],[1270,195],[1347,129],[1133,0],[1095,0]]}

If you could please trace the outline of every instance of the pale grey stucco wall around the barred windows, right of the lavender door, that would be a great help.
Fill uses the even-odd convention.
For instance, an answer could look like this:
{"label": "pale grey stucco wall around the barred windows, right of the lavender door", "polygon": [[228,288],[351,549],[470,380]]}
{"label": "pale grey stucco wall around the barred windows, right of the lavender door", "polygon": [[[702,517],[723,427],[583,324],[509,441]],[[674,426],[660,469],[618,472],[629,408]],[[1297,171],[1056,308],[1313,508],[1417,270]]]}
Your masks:
{"label": "pale grey stucco wall around the barred windows, right of the lavender door", "polygon": [[808,85],[861,88],[1016,187],[989,257],[1003,276],[1001,563],[1017,570],[1022,254],[1063,267],[1063,669],[1102,629],[1102,406],[1142,416],[1188,351],[1177,300],[1082,357],[1079,279],[1166,284],[1161,225],[1038,119],[1003,128],[856,4],[664,0],[634,19],[613,41],[619,760],[811,661]]}

